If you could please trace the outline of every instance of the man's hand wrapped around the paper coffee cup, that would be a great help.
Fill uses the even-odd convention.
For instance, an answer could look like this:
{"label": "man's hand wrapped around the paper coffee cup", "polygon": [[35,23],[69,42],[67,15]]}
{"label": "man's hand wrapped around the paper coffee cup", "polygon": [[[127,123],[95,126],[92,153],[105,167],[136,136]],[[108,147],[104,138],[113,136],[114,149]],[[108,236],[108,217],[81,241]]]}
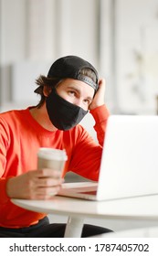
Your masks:
{"label": "man's hand wrapped around the paper coffee cup", "polygon": [[62,182],[58,171],[33,170],[8,179],[6,193],[11,198],[48,199],[58,194]]}

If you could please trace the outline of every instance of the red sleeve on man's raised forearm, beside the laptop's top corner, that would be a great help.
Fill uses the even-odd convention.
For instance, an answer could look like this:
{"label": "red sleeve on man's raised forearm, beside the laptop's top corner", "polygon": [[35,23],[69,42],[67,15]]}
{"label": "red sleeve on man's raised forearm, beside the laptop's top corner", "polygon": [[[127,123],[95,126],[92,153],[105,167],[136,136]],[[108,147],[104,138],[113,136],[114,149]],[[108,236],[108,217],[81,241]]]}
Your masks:
{"label": "red sleeve on man's raised forearm, beside the laptop's top corner", "polygon": [[102,146],[110,112],[108,111],[105,105],[101,105],[100,107],[90,111],[90,113],[92,114],[95,120],[94,129],[97,133],[98,141]]}

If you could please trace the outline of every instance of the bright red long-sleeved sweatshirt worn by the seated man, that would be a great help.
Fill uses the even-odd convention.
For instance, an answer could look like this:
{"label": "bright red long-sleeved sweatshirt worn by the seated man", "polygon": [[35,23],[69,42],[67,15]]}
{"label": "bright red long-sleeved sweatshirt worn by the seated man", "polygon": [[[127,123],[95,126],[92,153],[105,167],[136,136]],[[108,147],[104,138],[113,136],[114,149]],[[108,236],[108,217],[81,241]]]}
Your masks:
{"label": "bright red long-sleeved sweatshirt worn by the seated man", "polygon": [[47,131],[32,117],[29,108],[0,114],[0,227],[28,227],[46,216],[16,207],[5,191],[8,178],[37,169],[39,147],[66,150],[68,161],[63,176],[72,171],[92,180],[98,179],[109,112],[102,105],[92,110],[91,114],[96,122],[94,129],[100,144],[96,144],[79,124],[65,132]]}

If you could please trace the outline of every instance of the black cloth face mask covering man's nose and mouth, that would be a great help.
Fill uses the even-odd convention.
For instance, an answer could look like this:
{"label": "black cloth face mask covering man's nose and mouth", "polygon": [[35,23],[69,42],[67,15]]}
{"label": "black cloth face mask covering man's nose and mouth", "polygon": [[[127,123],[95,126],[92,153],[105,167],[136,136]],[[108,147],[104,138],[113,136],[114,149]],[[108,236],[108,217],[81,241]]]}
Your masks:
{"label": "black cloth face mask covering man's nose and mouth", "polygon": [[47,113],[58,130],[66,131],[77,125],[88,113],[77,105],[61,98],[55,89],[46,99]]}

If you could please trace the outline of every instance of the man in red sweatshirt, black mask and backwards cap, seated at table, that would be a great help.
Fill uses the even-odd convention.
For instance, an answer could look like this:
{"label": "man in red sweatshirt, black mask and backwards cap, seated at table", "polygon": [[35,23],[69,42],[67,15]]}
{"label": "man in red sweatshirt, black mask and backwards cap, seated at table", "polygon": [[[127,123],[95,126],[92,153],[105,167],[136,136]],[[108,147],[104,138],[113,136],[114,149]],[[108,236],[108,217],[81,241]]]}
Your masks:
{"label": "man in red sweatshirt, black mask and backwards cap, seated at table", "polygon": [[[0,236],[63,237],[64,224],[49,224],[46,214],[18,208],[10,198],[51,199],[63,182],[58,171],[37,170],[39,147],[65,149],[68,171],[97,180],[109,112],[104,105],[105,81],[86,60],[56,60],[47,77],[37,79],[41,96],[36,107],[0,114]],[[90,112],[99,143],[78,123]],[[82,236],[110,231],[85,225]]]}

